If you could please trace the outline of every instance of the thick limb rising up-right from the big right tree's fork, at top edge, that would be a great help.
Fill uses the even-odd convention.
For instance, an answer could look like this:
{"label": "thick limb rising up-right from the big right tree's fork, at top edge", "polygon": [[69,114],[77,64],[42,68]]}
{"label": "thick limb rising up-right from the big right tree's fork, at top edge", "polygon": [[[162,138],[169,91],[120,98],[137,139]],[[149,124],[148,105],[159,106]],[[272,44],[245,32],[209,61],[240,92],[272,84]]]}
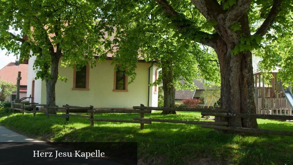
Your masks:
{"label": "thick limb rising up-right from the big right tree's fork, at top edge", "polygon": [[230,27],[249,9],[251,0],[239,0],[226,12],[226,26]]}

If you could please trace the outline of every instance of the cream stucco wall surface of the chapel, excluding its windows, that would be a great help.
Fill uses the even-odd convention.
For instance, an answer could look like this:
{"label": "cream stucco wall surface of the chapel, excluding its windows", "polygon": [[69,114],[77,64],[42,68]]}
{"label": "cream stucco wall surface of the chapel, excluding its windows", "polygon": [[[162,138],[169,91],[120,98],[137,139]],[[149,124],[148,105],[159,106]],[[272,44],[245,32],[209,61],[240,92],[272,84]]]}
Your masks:
{"label": "cream stucco wall surface of the chapel, excluding its windows", "polygon": [[[29,61],[28,95],[31,93],[32,80],[35,73],[31,70],[33,59]],[[114,68],[112,60],[105,60],[89,70],[89,90],[73,90],[73,68],[59,66],[59,75],[66,76],[67,82],[58,80],[56,83],[56,105],[65,104],[75,106],[93,105],[95,108],[132,108],[148,102],[148,78],[150,63],[137,63],[136,79],[128,85],[128,92],[113,91]],[[153,68],[151,72],[154,71]],[[152,73],[151,73],[152,77]],[[130,79],[130,78],[128,78]],[[37,92],[38,91],[38,92]],[[157,106],[157,94],[151,87],[150,105]],[[35,80],[35,102],[46,103],[46,84],[44,81]]]}

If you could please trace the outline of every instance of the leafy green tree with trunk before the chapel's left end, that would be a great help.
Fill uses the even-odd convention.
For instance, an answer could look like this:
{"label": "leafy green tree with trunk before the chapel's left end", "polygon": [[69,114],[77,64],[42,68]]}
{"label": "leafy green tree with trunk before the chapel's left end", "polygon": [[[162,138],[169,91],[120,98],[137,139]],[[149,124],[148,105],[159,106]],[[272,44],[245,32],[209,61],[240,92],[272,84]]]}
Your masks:
{"label": "leafy green tree with trunk before the chapel's left end", "polygon": [[78,0],[0,2],[0,47],[7,53],[21,53],[22,60],[36,56],[34,69],[37,78],[46,81],[47,104],[55,105],[61,57],[63,65],[81,66],[88,60],[94,65],[94,55],[105,52],[99,3],[95,5]]}

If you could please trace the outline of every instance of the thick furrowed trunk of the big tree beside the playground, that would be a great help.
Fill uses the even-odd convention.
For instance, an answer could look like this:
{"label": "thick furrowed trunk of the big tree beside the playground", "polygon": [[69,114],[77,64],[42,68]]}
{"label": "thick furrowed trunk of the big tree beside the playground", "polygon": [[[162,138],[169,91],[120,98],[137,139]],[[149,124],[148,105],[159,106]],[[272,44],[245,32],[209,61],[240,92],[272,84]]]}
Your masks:
{"label": "thick furrowed trunk of the big tree beside the playground", "polygon": [[[250,35],[247,15],[242,16],[239,21],[242,25],[241,32]],[[221,72],[221,107],[228,109],[230,113],[255,114],[251,52],[231,54],[235,45],[240,43],[239,40],[239,32],[234,31],[224,31],[222,37],[217,39],[215,51]],[[216,121],[228,121],[231,127],[258,129],[256,119],[252,118],[216,117]]]}

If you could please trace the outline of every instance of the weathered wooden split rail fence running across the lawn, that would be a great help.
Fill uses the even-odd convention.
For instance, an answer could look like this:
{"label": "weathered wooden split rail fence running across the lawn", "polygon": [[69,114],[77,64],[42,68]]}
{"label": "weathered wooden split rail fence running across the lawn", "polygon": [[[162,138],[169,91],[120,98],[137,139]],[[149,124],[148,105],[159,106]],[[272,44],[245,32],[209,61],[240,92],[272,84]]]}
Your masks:
{"label": "weathered wooden split rail fence running across the lawn", "polygon": [[[14,108],[14,106],[21,106],[21,108]],[[54,115],[48,114],[46,111],[37,111],[35,110],[36,106],[44,106],[44,108],[48,109],[62,109],[66,110],[65,114],[62,115]],[[33,107],[33,111],[25,111],[26,107]],[[80,115],[80,114],[70,114],[70,109],[80,109],[80,110],[88,110],[90,115]],[[48,107],[47,105],[33,104],[33,105],[23,105],[23,104],[13,104],[13,112],[15,110],[19,110],[20,112],[34,113],[35,112],[43,112],[45,115],[56,116],[56,117],[64,117],[67,121],[69,121],[69,116],[78,116],[78,117],[86,117],[91,122],[91,126],[94,126],[94,121],[100,122],[125,122],[125,123],[138,123],[140,124],[140,129],[144,129],[144,124],[151,124],[152,122],[165,122],[165,123],[182,123],[182,124],[201,124],[203,128],[211,128],[217,130],[228,130],[228,131],[239,131],[239,132],[251,132],[251,133],[259,133],[259,134],[277,134],[277,135],[286,135],[293,136],[292,131],[275,131],[275,130],[261,130],[261,129],[251,129],[251,128],[241,128],[241,127],[231,127],[228,122],[212,122],[212,121],[190,121],[190,120],[169,120],[169,119],[154,119],[154,118],[146,118],[146,113],[151,113],[152,110],[160,110],[160,111],[183,111],[183,112],[201,112],[203,116],[215,116],[215,117],[240,117],[240,118],[258,118],[258,119],[279,119],[279,120],[293,120],[293,116],[288,115],[258,115],[258,114],[232,114],[228,113],[226,109],[211,109],[211,108],[163,108],[163,107],[145,107],[141,104],[141,106],[134,106],[133,109],[112,109],[112,110],[94,110],[93,106],[89,107],[79,107],[79,106],[70,106],[63,105],[62,107]],[[102,119],[95,118],[95,113],[139,113],[140,117],[134,117],[133,120],[122,120],[122,119]]]}

